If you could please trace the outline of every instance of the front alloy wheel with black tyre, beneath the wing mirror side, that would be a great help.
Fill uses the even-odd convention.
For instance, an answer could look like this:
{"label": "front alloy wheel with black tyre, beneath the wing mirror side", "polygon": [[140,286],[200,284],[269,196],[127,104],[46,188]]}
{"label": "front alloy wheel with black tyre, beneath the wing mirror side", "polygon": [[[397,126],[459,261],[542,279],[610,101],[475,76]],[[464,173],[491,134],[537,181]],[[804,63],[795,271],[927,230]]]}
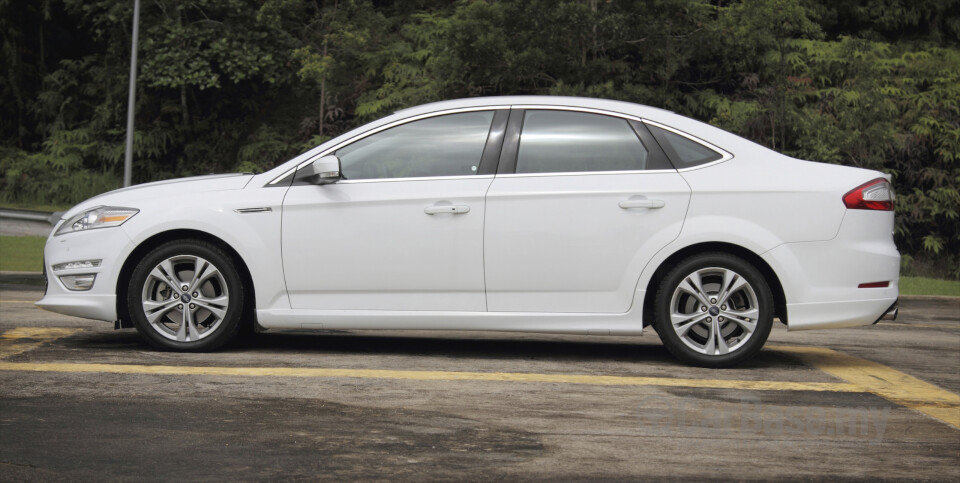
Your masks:
{"label": "front alloy wheel with black tyre, beneath the wing mirror side", "polygon": [[140,334],[155,346],[212,350],[237,332],[243,285],[232,260],[217,246],[174,241],[148,253],[134,269],[127,309]]}

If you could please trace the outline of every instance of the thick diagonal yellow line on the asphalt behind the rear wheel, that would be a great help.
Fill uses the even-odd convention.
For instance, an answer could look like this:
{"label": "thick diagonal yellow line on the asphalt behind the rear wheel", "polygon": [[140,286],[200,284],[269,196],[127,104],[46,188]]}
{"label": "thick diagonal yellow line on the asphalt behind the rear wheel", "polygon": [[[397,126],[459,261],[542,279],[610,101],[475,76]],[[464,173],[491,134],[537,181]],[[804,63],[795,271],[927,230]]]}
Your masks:
{"label": "thick diagonal yellow line on the asphalt behind the rear wheel", "polygon": [[939,419],[960,429],[960,396],[909,374],[825,347],[771,347],[792,355],[864,392]]}

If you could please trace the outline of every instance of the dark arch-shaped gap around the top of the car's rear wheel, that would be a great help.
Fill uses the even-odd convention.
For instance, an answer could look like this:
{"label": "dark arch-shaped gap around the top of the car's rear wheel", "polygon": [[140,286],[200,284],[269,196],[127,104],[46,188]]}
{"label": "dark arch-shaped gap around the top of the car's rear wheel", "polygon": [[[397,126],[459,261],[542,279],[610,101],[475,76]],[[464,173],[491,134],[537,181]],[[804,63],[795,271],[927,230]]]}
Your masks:
{"label": "dark arch-shaped gap around the top of the car's rear wheel", "polygon": [[724,252],[731,255],[738,256],[748,263],[753,265],[763,274],[764,279],[770,285],[770,291],[773,292],[774,300],[774,315],[780,319],[784,324],[787,323],[787,299],[783,291],[783,284],[780,283],[780,277],[777,276],[777,273],[770,267],[770,265],[760,257],[760,255],[754,253],[748,248],[744,248],[740,245],[726,242],[703,242],[696,243],[683,247],[669,257],[667,257],[663,262],[660,263],[660,266],[653,272],[653,276],[650,277],[650,281],[647,282],[646,292],[643,298],[643,326],[649,326],[653,324],[654,320],[654,300],[657,295],[657,287],[660,285],[660,281],[663,280],[663,277],[670,272],[670,269],[676,266],[678,263],[684,259],[695,255],[697,253],[704,252]]}

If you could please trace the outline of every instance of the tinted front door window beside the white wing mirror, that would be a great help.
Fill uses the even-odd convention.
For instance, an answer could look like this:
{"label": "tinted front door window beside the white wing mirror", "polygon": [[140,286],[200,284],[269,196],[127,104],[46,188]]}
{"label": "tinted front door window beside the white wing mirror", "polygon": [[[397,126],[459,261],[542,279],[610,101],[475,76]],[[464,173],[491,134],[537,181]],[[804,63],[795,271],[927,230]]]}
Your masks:
{"label": "tinted front door window beside the white wing mirror", "polygon": [[477,173],[493,111],[408,122],[337,150],[345,179],[468,176]]}

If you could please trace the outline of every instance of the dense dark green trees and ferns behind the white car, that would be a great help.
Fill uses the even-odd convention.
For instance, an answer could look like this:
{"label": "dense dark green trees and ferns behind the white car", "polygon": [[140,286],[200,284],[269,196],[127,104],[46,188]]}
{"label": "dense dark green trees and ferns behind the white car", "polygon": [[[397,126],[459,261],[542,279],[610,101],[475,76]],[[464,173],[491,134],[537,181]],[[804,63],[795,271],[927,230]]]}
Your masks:
{"label": "dense dark green trees and ferns behind the white car", "polygon": [[[0,200],[119,185],[132,7],[0,0]],[[892,174],[901,251],[960,276],[957,0],[150,0],[140,39],[136,182],[427,101],[624,99]]]}

